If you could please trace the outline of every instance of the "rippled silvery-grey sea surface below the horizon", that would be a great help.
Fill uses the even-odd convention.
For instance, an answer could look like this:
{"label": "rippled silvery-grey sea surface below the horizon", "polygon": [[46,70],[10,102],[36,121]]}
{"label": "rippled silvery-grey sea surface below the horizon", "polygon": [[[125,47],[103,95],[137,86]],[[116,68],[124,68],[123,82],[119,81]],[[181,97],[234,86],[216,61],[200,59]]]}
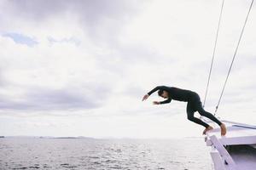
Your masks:
{"label": "rippled silvery-grey sea surface below the horizon", "polygon": [[0,139],[0,169],[212,170],[201,139]]}

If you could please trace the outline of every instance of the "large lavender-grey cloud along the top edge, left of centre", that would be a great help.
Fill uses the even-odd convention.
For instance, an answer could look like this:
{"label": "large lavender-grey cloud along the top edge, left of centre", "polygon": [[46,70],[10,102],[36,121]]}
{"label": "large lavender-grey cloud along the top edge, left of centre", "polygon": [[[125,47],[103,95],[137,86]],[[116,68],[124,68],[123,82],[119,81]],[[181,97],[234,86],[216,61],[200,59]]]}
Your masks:
{"label": "large lavender-grey cloud along the top edge, left of centre", "polygon": [[[22,31],[27,25],[38,26],[48,31],[52,25],[60,26],[55,19],[63,20],[65,26],[72,26],[75,22],[82,26],[83,31],[91,37],[91,41],[108,44],[103,40],[113,40],[120,27],[136,16],[144,2],[136,0],[121,2],[118,0],[110,2],[100,0],[4,1],[0,4],[3,11],[0,20],[3,23],[3,31],[4,28],[14,29],[14,26],[20,26],[19,30]],[[8,16],[8,19],[5,16]],[[10,24],[9,20],[15,20],[15,22]]]}

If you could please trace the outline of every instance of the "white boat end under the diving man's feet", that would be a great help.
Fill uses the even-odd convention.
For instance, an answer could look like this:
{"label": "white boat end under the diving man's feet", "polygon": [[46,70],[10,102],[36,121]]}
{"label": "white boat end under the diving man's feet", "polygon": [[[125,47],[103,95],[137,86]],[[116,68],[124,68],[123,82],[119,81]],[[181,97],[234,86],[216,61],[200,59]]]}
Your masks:
{"label": "white boat end under the diving man's feet", "polygon": [[207,146],[212,146],[211,156],[215,169],[256,169],[256,127],[223,121],[227,127],[225,136],[220,128],[207,132]]}

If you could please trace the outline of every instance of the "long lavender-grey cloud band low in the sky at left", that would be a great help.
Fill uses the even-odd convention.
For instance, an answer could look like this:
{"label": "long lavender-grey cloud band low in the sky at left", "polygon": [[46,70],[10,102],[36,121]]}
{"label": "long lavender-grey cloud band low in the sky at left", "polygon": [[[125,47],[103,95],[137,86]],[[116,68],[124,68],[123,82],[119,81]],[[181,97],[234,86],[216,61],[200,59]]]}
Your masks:
{"label": "long lavender-grey cloud band low in the sky at left", "polygon": [[[67,87],[64,89],[50,89],[43,87],[26,87],[26,94],[16,96],[15,100],[0,99],[2,110],[17,111],[73,111],[88,110],[102,107],[104,100],[112,89],[95,84],[93,87]],[[100,96],[100,97],[99,97]]]}

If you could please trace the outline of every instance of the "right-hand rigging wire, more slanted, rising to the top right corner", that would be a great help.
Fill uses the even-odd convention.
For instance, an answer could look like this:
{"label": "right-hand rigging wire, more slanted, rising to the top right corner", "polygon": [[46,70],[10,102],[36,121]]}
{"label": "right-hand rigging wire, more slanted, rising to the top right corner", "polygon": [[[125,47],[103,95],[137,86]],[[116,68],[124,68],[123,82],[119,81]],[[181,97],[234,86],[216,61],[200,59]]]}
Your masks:
{"label": "right-hand rigging wire, more slanted, rising to the top right corner", "polygon": [[[251,8],[253,7],[253,1],[254,1],[254,0],[252,0],[252,3],[251,3],[251,5],[250,5],[250,8],[248,9],[247,18],[246,18],[246,20],[244,21],[244,24],[243,24],[243,27],[242,27],[242,30],[241,30],[241,35],[240,35],[239,40],[238,40],[237,45],[236,45],[236,51],[235,51],[235,54],[233,55],[233,59],[232,59],[231,64],[230,64],[230,69],[229,69],[229,71],[228,71],[227,77],[226,77],[225,82],[224,82],[224,87],[223,87],[223,89],[222,89],[222,91],[221,91],[221,94],[220,94],[220,97],[219,97],[219,99],[218,99],[218,105],[219,105],[220,100],[222,99],[222,96],[223,96],[223,94],[224,94],[224,89],[225,89],[225,87],[226,87],[226,83],[227,83],[227,81],[228,81],[228,78],[230,77],[230,71],[231,71],[232,65],[233,65],[233,63],[234,63],[234,60],[235,60],[235,58],[236,58],[236,52],[237,52],[237,50],[238,50],[238,48],[239,48],[239,44],[240,44],[240,42],[241,42],[241,37],[242,37],[243,31],[244,31],[244,29],[245,29],[245,26],[246,26],[246,24],[247,24],[248,16],[249,16],[249,14],[250,14],[250,12],[251,12]],[[218,105],[216,106],[214,116],[215,116],[216,112],[218,111]]]}

